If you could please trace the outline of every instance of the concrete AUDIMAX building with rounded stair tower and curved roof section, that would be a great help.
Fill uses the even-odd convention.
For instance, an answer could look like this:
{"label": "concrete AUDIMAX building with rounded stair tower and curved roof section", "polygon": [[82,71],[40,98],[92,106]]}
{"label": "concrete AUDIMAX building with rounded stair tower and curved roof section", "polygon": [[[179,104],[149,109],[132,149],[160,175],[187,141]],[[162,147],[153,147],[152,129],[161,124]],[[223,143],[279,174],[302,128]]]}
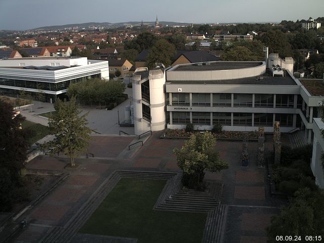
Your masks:
{"label": "concrete AUDIMAX building with rounded stair tower and curved roof section", "polygon": [[[293,64],[292,58],[282,60],[270,54],[265,62],[137,68],[132,79],[135,134],[183,129],[188,123],[195,130],[211,130],[221,124],[227,131],[255,131],[262,126],[273,132],[274,121],[280,121],[280,132],[303,130],[311,143],[313,118],[321,115],[324,85],[317,79],[322,90],[311,91],[311,80],[292,75]],[[324,148],[324,141],[321,143],[318,153]]]}

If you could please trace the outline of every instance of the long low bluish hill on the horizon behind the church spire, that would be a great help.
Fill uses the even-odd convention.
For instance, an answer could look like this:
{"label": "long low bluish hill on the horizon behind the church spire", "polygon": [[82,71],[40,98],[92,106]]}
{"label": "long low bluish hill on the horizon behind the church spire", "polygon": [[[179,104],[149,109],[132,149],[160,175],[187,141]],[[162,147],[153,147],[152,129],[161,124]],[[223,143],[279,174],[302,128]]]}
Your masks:
{"label": "long low bluish hill on the horizon behind the church spire", "polygon": [[[160,21],[159,23],[162,25],[189,25],[189,24],[191,24],[191,23],[167,22],[167,21]],[[82,24],[52,25],[52,26],[39,27],[39,28],[35,28],[32,30],[59,30],[59,29],[73,28],[73,27],[89,29],[90,26],[96,26],[96,27],[100,26],[100,27],[104,27],[104,28],[116,28],[116,27],[121,27],[121,26],[125,26],[125,25],[137,25],[137,24],[141,24],[141,21],[139,21],[139,22],[136,22],[136,21],[121,22],[121,23],[89,22],[89,23],[82,23]],[[155,22],[143,22],[143,24],[154,25]]]}

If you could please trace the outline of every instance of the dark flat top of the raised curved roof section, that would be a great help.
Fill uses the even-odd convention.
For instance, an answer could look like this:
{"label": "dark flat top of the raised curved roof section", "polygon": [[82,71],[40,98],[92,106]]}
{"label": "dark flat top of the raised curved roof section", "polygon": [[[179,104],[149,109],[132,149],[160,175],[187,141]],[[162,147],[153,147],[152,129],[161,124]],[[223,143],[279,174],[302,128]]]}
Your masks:
{"label": "dark flat top of the raised curved roof section", "polygon": [[262,62],[208,62],[209,65],[203,63],[203,65],[198,66],[196,63],[186,64],[183,66],[178,66],[170,71],[213,71],[213,70],[231,70],[231,69],[241,69],[241,68],[251,68],[262,65]]}

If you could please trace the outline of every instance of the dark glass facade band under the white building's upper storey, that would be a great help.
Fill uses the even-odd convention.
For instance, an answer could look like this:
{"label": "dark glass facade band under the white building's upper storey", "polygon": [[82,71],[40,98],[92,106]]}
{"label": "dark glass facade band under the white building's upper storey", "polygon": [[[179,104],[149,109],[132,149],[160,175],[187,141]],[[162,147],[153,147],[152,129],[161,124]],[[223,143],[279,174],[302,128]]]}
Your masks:
{"label": "dark glass facade band under the white building's upper storey", "polygon": [[91,78],[99,77],[100,74],[94,74],[86,77],[73,78],[70,80],[65,80],[58,83],[51,82],[39,82],[39,81],[30,81],[30,80],[21,80],[21,79],[9,79],[0,77],[0,85],[4,86],[13,86],[26,89],[42,89],[47,91],[61,91],[66,90],[70,84],[79,83],[83,80],[88,80]]}

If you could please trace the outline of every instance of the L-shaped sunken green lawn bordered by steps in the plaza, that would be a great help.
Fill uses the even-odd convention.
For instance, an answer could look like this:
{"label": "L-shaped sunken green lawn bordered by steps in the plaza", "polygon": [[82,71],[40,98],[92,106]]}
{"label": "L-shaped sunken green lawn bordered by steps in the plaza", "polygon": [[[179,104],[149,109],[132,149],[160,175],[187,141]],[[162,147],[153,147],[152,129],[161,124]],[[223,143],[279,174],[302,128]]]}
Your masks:
{"label": "L-shaped sunken green lawn bordered by steps in the plaza", "polygon": [[200,242],[206,213],[153,210],[165,184],[121,178],[79,232],[138,238],[138,243]]}

